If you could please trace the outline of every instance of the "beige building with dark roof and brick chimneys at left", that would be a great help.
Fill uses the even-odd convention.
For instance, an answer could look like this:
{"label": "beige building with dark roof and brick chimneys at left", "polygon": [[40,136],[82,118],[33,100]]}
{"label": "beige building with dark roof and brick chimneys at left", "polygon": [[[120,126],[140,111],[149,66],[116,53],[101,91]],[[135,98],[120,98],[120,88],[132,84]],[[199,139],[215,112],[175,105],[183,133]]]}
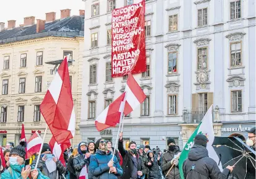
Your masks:
{"label": "beige building with dark roof and brick chimneys at left", "polygon": [[[55,76],[56,69],[46,62],[63,59],[70,54],[74,62],[69,64],[69,76],[73,92],[76,123],[80,122],[81,72],[84,48],[84,11],[71,16],[70,9],[61,10],[61,19],[56,13],[46,13],[46,20],[25,17],[24,24],[16,27],[9,20],[7,28],[0,23],[0,144],[17,144],[22,123],[27,140],[38,131],[43,137],[46,123],[40,114],[40,103]],[[77,12],[78,14],[78,12]],[[80,65],[81,66],[81,65]],[[81,141],[76,124],[75,145]],[[48,130],[46,141],[51,139]]]}

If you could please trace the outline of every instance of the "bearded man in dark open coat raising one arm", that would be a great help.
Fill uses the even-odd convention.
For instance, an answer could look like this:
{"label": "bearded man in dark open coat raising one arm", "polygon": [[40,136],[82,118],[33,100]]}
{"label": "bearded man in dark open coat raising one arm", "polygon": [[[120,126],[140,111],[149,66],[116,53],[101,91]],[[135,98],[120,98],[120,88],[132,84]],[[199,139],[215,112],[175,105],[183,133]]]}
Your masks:
{"label": "bearded man in dark open coat raising one arm", "polygon": [[128,151],[123,148],[123,133],[119,134],[118,150],[123,157],[123,175],[121,179],[136,179],[143,176],[142,159],[136,152],[136,142],[131,141],[128,146]]}

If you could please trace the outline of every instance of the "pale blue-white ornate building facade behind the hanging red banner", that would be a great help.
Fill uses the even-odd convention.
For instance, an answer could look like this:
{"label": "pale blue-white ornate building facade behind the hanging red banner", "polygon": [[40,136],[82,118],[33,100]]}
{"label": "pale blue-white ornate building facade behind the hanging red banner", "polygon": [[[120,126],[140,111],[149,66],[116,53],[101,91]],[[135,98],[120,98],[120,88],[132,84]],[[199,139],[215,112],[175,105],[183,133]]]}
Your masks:
{"label": "pale blue-white ornate building facade behind the hanging red banner", "polygon": [[[111,11],[136,2],[85,1],[84,38],[90,43],[85,43],[79,126],[84,141],[117,136],[117,128],[99,133],[94,122],[126,84],[126,76],[111,77]],[[147,71],[134,77],[147,98],[125,117],[125,144],[133,140],[165,149],[172,137],[183,146],[211,105],[218,136],[228,124],[255,125],[254,4],[146,1]]]}

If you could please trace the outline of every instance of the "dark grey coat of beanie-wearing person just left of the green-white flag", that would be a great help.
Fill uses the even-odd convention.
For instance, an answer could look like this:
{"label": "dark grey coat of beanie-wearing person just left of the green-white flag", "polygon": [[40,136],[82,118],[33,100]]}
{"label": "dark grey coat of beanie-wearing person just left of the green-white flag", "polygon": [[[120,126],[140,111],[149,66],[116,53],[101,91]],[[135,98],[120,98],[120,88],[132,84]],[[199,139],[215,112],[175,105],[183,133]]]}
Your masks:
{"label": "dark grey coat of beanie-wearing person just left of the green-white flag", "polygon": [[[172,167],[172,164],[170,164],[171,160],[174,159],[174,155],[177,155],[180,152],[180,147],[176,146],[176,149],[174,151],[167,151],[162,155],[162,172],[166,175],[170,168]],[[179,165],[174,166],[172,170],[170,170],[169,174],[166,176],[167,179],[180,179],[180,171],[179,171]]]}

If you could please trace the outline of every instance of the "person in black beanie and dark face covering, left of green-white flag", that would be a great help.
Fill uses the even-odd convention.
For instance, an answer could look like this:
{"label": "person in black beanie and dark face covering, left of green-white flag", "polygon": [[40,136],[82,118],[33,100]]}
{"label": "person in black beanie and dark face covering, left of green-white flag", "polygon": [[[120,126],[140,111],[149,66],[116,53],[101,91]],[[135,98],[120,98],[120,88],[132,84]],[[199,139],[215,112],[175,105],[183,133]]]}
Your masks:
{"label": "person in black beanie and dark face covering, left of green-white flag", "polygon": [[167,152],[162,155],[162,172],[167,179],[180,179],[179,160],[177,159],[180,154],[180,147],[176,146],[174,138],[167,139],[167,146]]}

